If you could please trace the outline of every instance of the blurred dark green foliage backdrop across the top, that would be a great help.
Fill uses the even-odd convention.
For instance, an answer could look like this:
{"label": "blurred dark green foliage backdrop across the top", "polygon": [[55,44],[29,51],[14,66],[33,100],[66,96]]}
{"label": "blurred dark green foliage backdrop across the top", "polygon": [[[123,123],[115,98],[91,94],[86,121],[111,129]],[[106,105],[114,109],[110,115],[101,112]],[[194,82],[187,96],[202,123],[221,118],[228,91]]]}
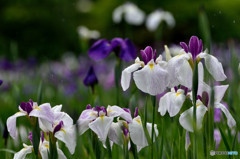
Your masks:
{"label": "blurred dark green foliage backdrop across the top", "polygon": [[[140,48],[155,41],[155,33],[145,24],[114,24],[113,10],[125,1],[111,0],[12,0],[0,5],[0,54],[9,59],[35,56],[40,60],[56,59],[66,51],[86,52],[77,33],[79,25],[98,30],[101,38],[130,37]],[[165,44],[179,43],[191,35],[202,37],[199,13],[204,10],[214,42],[240,39],[240,1],[238,0],[133,0],[146,15],[157,8],[173,14],[176,25],[163,28]],[[203,38],[203,37],[202,37]],[[17,53],[16,53],[17,52]]]}

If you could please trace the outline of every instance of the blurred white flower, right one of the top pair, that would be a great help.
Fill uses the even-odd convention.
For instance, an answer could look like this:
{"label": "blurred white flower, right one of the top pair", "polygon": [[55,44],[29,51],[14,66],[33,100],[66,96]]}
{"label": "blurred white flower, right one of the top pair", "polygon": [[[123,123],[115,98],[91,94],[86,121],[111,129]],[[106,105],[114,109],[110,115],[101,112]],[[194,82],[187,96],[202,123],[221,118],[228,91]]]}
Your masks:
{"label": "blurred white flower, right one of the top pair", "polygon": [[175,26],[173,15],[170,12],[158,9],[148,15],[146,27],[149,31],[155,31],[162,21],[165,21],[170,28]]}

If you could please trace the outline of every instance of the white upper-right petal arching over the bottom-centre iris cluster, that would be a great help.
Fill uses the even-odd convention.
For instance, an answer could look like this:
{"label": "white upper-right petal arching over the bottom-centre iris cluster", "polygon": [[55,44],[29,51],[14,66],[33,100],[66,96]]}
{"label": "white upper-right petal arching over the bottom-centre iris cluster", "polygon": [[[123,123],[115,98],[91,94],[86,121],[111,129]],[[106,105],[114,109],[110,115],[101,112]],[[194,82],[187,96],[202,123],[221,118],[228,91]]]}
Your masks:
{"label": "white upper-right petal arching over the bottom-centre iris cluster", "polygon": [[132,116],[129,112],[126,112],[119,106],[108,106],[107,107],[107,115],[109,117],[122,117],[128,122],[132,122]]}

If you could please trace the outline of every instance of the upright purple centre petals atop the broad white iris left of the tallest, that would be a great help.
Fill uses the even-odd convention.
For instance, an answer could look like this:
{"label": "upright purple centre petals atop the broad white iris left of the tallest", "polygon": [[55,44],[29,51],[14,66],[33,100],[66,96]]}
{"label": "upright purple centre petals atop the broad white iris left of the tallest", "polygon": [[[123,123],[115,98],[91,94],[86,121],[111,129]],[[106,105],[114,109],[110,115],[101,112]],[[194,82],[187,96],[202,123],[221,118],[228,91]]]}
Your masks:
{"label": "upright purple centre petals atop the broad white iris left of the tallest", "polygon": [[157,51],[156,49],[153,51],[151,46],[147,46],[144,50],[140,50],[140,53],[145,65],[152,59],[156,61]]}

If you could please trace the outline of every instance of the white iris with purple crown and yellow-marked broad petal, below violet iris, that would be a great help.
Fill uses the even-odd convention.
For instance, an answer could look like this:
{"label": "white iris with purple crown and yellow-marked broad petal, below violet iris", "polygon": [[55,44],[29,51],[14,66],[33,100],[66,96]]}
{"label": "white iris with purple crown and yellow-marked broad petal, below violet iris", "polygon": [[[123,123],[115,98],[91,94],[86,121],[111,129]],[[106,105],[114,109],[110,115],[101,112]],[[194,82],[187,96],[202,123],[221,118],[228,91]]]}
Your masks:
{"label": "white iris with purple crown and yellow-marked broad petal, below violet iris", "polygon": [[140,51],[143,61],[137,57],[135,63],[122,71],[121,86],[126,91],[133,79],[141,91],[150,95],[161,94],[167,87],[168,72],[167,62],[162,61],[162,56],[157,58],[156,50],[148,46]]}

